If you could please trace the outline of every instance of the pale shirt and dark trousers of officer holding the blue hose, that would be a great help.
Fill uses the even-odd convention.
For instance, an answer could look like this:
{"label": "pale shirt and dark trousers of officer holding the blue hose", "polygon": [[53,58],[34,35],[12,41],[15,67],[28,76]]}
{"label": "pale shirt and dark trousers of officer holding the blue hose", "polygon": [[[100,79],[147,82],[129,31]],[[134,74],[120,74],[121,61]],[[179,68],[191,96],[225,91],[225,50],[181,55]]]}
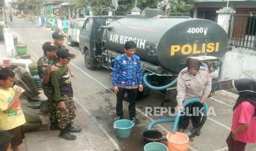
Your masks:
{"label": "pale shirt and dark trousers of officer holding the blue hose", "polygon": [[[197,74],[192,75],[189,74],[188,67],[182,69],[181,72],[179,72],[178,75],[178,82],[177,82],[177,102],[179,105],[182,106],[182,103],[184,101],[187,101],[189,98],[198,97],[201,98],[201,96],[207,98],[208,95],[211,92],[211,77],[208,69],[205,67],[200,66],[199,71]],[[193,113],[193,108],[199,107],[199,110],[203,105],[199,102],[194,102],[191,104],[188,104],[188,106],[185,107],[186,109],[189,109],[190,114]],[[192,109],[191,109],[192,108]],[[198,111],[199,111],[198,110]],[[200,126],[201,123],[201,115],[198,116],[191,116],[192,124],[194,129],[197,129]],[[179,119],[178,127],[179,129],[186,129],[188,126],[189,116],[181,116]]]}

